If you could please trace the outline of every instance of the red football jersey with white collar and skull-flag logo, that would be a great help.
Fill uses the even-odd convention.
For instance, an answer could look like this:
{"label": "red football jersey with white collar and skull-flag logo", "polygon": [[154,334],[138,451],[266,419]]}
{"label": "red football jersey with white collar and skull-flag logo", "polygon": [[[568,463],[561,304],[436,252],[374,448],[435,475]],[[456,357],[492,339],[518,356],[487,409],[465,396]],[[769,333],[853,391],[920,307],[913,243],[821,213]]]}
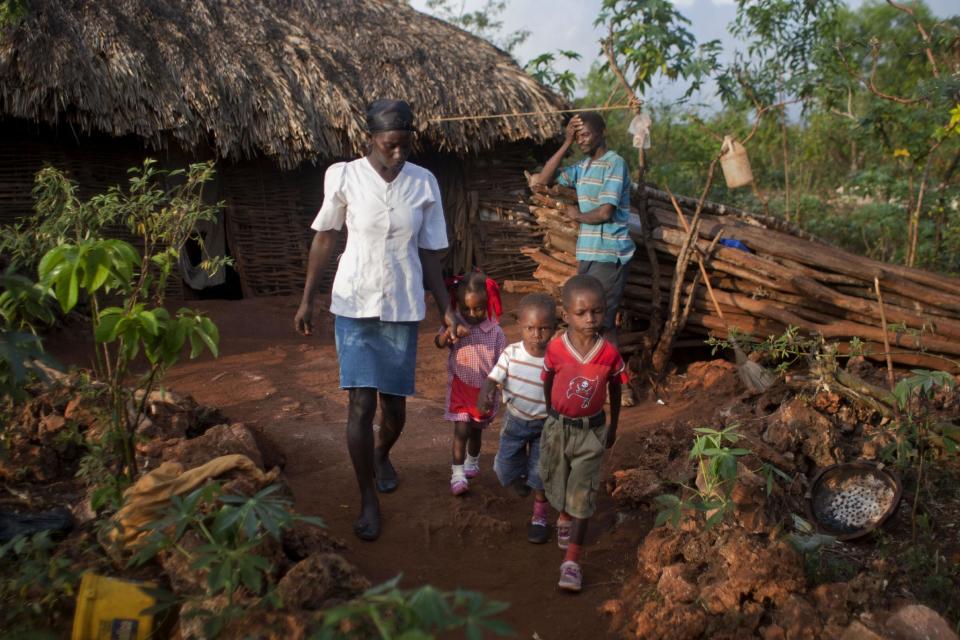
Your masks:
{"label": "red football jersey with white collar and skull-flag logo", "polygon": [[607,399],[607,383],[615,378],[621,383],[627,381],[626,367],[616,347],[601,338],[580,357],[566,332],[547,345],[541,378],[546,379],[548,372],[554,373],[550,404],[554,411],[571,418],[600,413]]}

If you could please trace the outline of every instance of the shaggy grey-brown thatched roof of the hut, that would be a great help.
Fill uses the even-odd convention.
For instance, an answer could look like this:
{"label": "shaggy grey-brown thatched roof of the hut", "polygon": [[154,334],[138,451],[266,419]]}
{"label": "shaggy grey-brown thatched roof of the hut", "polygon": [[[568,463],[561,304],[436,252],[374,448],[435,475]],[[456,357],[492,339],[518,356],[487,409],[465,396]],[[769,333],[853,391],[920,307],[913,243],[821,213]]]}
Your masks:
{"label": "shaggy grey-brown thatched roof of the hut", "polygon": [[[400,0],[29,0],[0,33],[0,117],[133,134],[283,167],[362,148],[363,109],[440,115],[556,109],[506,53]],[[432,124],[467,153],[544,142],[554,117]]]}

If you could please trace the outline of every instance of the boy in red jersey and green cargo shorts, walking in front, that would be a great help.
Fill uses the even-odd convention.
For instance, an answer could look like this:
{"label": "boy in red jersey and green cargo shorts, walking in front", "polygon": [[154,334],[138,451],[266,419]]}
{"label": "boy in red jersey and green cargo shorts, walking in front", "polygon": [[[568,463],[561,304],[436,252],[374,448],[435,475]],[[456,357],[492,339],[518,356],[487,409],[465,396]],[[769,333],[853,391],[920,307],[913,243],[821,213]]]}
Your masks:
{"label": "boy in red jersey and green cargo shorts, walking in front", "polygon": [[[547,345],[541,375],[547,419],[540,439],[540,477],[547,500],[560,512],[557,545],[566,555],[558,586],[572,592],[583,583],[580,548],[596,508],[603,450],[617,438],[620,385],[627,381],[616,347],[600,336],[605,310],[599,280],[588,275],[567,280],[567,330]],[[603,411],[608,394],[609,425]]]}

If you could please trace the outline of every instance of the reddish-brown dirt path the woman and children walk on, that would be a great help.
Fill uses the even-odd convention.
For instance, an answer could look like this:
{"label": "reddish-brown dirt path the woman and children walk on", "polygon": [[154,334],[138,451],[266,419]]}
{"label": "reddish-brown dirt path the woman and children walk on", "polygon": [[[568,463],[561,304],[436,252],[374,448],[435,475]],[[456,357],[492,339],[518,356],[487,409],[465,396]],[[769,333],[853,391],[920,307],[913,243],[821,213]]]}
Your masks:
{"label": "reddish-brown dirt path the woman and children walk on", "polygon": [[[508,312],[517,300],[506,297]],[[539,546],[526,541],[530,499],[502,488],[493,473],[499,419],[484,436],[482,472],[470,493],[450,496],[451,426],[441,417],[446,352],[433,346],[435,316],[421,325],[418,395],[408,402],[407,427],[392,455],[400,488],[381,497],[383,535],[374,543],[354,538],[358,496],[344,438],[346,394],[337,385],[332,321],[301,337],[293,330],[296,305],[293,298],[192,302],[219,326],[221,354],[178,365],[165,385],[255,427],[285,459],[283,475],[297,509],[323,517],[330,532],[347,541],[346,558],[374,583],[402,573],[405,587],[430,583],[481,591],[510,603],[503,617],[521,638],[608,636],[609,620],[599,607],[635,573],[637,546],[652,526],[652,513],[618,516],[615,501],[602,491],[585,549],[584,591],[572,596],[556,588],[562,557],[554,540]],[[510,341],[519,339],[509,313],[503,326]],[[69,333],[75,336],[77,329]],[[84,364],[71,357],[86,353],[75,340],[61,334],[48,346]],[[650,399],[625,409],[604,479],[613,469],[636,466],[644,433],[653,425],[708,418],[714,406],[700,396],[667,406]]]}

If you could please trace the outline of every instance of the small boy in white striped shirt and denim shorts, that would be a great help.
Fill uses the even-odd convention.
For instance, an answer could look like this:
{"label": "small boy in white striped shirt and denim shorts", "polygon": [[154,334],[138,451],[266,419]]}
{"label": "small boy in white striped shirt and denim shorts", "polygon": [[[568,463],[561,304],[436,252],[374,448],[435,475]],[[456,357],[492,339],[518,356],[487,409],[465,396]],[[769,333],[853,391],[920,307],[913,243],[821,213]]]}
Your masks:
{"label": "small boy in white striped shirt and denim shorts", "polygon": [[493,469],[503,486],[514,487],[521,496],[533,491],[533,516],[527,527],[527,540],[543,544],[549,534],[549,505],[538,470],[540,433],[547,417],[540,375],[547,343],[557,327],[556,303],[542,293],[524,296],[517,310],[517,323],[522,339],[500,355],[480,390],[477,408],[488,411],[493,392],[497,387],[503,389],[507,412]]}

